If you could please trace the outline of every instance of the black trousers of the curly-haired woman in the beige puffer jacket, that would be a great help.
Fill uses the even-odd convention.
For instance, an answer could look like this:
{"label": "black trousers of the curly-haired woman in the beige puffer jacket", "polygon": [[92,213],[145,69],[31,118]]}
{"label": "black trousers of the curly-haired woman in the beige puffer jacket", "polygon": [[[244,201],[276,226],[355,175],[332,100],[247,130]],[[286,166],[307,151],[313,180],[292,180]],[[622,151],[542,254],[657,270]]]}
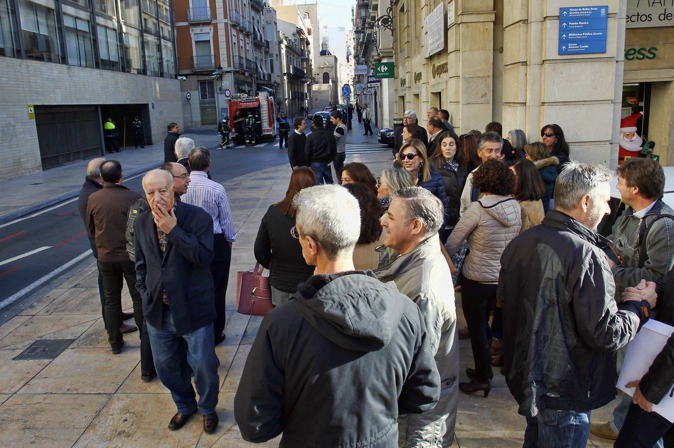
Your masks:
{"label": "black trousers of the curly-haired woman in the beige puffer jacket", "polygon": [[461,277],[461,306],[468,324],[475,374],[479,381],[491,379],[491,329],[489,311],[496,304],[496,284]]}

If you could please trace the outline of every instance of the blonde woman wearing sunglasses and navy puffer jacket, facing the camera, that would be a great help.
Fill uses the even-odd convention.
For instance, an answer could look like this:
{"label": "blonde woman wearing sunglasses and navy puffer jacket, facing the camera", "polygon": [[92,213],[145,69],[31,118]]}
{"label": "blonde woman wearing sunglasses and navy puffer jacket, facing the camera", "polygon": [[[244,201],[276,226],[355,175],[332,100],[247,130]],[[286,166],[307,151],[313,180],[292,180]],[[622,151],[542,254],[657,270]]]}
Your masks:
{"label": "blonde woman wearing sunglasses and navy puffer jacket, facing the camera", "polygon": [[440,227],[440,239],[447,240],[445,227],[450,221],[450,207],[447,204],[447,193],[445,186],[442,184],[442,176],[435,172],[431,172],[428,155],[426,153],[426,145],[419,139],[410,139],[402,144],[400,151],[398,151],[398,158],[402,162],[402,167],[406,172],[412,174],[412,178],[417,180],[417,186],[429,190],[436,198],[442,202],[445,208],[445,215],[443,225]]}

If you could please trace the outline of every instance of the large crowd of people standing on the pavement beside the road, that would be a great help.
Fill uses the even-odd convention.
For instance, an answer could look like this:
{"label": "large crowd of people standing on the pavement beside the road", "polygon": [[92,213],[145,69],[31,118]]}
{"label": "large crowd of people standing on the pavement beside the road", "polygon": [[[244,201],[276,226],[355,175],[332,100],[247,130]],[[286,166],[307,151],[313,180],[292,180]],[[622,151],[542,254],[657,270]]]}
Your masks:
{"label": "large crowd of people standing on the pavement beside the road", "polygon": [[[241,435],[282,435],[282,446],[447,447],[459,391],[489,400],[495,366],[526,418],[526,447],[584,447],[590,430],[619,447],[662,444],[672,425],[650,411],[674,384],[674,336],[613,421],[590,424],[590,411],[615,398],[627,342],[649,318],[674,324],[674,211],[662,201],[662,167],[640,158],[618,167],[627,209],[604,237],[613,174],[572,161],[557,124],[530,143],[519,129],[503,139],[497,122],[456,135],[445,113],[431,108],[422,128],[406,111],[378,177],[344,163],[341,112],[333,130],[316,116],[308,136],[306,120],[294,120],[288,190],[255,238],[275,307],[235,396]],[[200,410],[213,432],[214,347],[237,233],[224,188],[208,178],[208,149],[185,138],[174,146],[175,161],[144,177],[144,198],[122,185],[119,162],[92,161],[80,208],[113,353],[131,317],[121,312],[125,278],[142,377],[157,375],[177,406],[168,427]],[[459,338],[470,339],[468,381]]]}

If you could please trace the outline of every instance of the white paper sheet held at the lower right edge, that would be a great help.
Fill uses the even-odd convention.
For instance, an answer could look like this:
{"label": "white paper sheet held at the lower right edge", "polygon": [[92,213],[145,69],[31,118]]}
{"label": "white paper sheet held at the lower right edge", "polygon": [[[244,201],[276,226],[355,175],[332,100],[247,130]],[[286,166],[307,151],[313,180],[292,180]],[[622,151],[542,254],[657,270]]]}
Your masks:
{"label": "white paper sheet held at the lower right edge", "polygon": [[[635,387],[628,388],[625,385],[640,380],[646,374],[673,332],[674,327],[652,319],[642,326],[636,337],[627,344],[625,361],[618,377],[618,389],[630,397],[634,396]],[[669,394],[659,404],[653,405],[653,410],[674,423],[674,398]]]}

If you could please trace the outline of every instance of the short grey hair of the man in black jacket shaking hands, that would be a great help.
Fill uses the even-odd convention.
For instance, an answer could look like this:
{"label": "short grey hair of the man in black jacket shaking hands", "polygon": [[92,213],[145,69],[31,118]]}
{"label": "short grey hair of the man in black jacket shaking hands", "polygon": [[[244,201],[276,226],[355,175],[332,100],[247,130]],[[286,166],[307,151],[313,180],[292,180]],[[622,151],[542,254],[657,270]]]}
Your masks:
{"label": "short grey hair of the man in black jacket shaking hands", "polygon": [[555,181],[555,209],[574,210],[586,194],[595,199],[596,189],[611,182],[611,170],[603,165],[588,165],[578,161],[564,164]]}

